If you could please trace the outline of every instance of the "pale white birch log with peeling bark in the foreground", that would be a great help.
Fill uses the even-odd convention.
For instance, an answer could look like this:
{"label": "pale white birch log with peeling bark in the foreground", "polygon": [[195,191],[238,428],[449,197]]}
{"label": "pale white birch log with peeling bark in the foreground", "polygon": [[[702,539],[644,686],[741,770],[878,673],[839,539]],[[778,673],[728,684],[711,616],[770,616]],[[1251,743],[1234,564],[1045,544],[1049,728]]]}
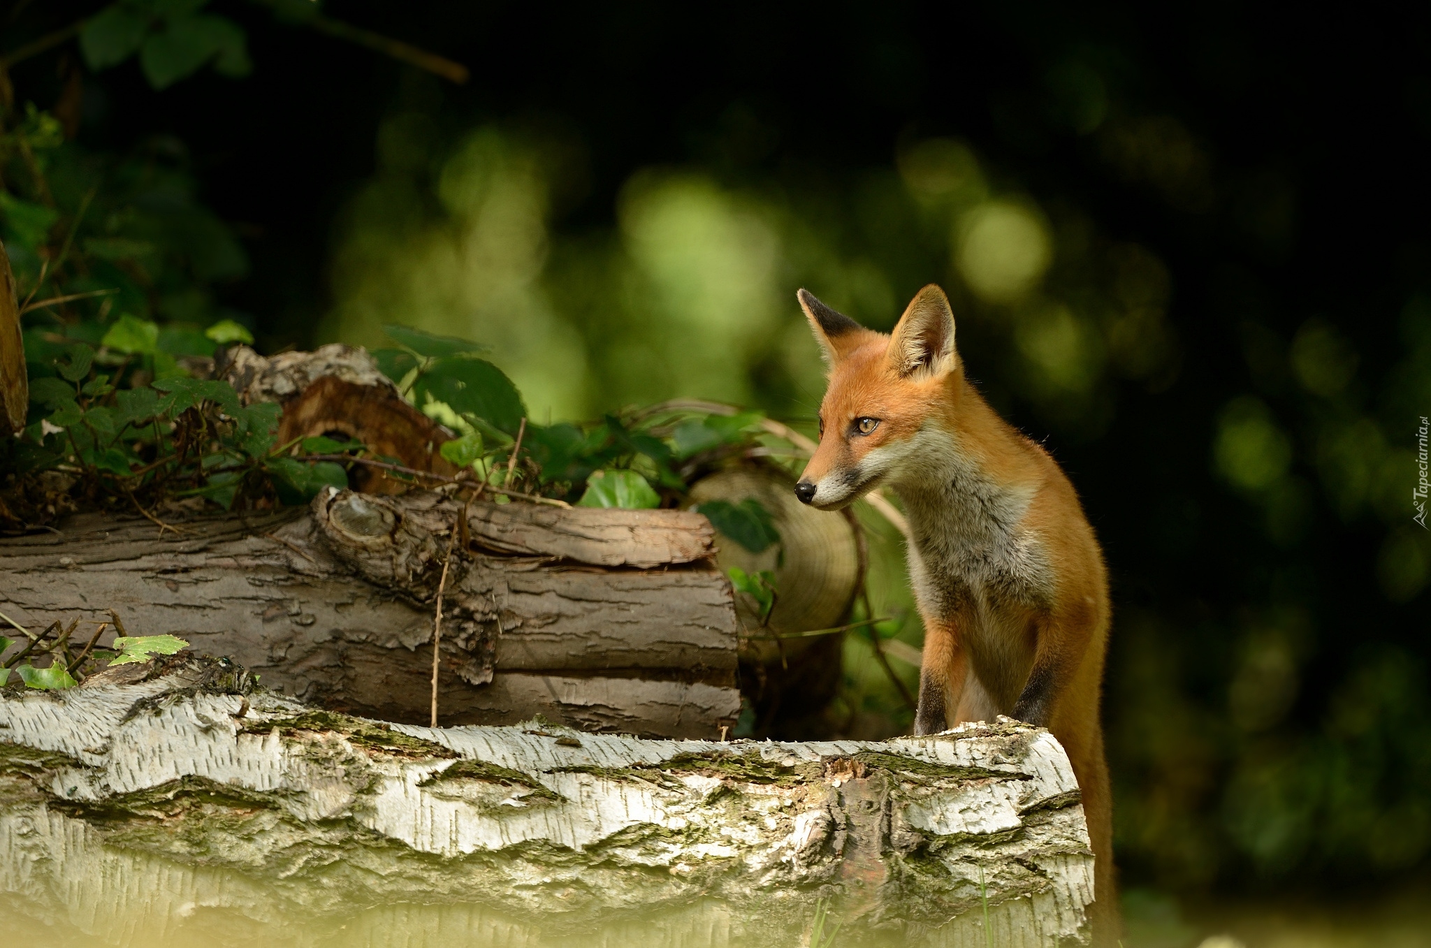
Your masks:
{"label": "pale white birch log with peeling bark in the foreground", "polygon": [[0,889],[90,935],[197,912],[311,944],[295,929],[421,902],[454,908],[455,944],[804,944],[826,905],[841,944],[1019,948],[1086,941],[1093,891],[1063,749],[1007,721],[819,744],[434,729],[169,659],[3,689],[0,801]]}

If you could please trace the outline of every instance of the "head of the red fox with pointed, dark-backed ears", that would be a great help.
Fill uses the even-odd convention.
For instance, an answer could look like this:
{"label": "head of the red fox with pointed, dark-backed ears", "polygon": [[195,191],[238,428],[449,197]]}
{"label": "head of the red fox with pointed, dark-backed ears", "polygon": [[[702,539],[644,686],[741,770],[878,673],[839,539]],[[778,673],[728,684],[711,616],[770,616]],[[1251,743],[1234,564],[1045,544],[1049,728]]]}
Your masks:
{"label": "head of the red fox with pointed, dark-backed ears", "polygon": [[797,293],[824,350],[830,383],[820,403],[820,446],[796,496],[839,510],[881,482],[917,473],[953,408],[963,365],[954,350],[954,315],[930,283],[910,300],[886,336],[837,313],[811,293]]}

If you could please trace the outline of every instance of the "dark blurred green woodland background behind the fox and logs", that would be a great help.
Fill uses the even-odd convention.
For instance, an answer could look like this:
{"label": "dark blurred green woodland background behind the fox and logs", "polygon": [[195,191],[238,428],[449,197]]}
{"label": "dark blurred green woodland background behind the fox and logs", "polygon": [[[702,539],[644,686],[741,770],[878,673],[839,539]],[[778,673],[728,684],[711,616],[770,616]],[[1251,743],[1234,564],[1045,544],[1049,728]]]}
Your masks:
{"label": "dark blurred green woodland background behind the fox and logs", "polygon": [[[137,316],[263,352],[405,323],[489,343],[541,422],[697,396],[810,430],[794,290],[889,329],[939,282],[1105,545],[1135,944],[1193,938],[1166,894],[1424,885],[1425,10],[116,6],[157,51],[63,34],[100,3],[0,23],[21,292],[92,194],[87,279]],[[185,17],[228,26],[169,69]],[[900,556],[884,529],[877,612]],[[831,728],[909,725],[856,638],[846,678]]]}

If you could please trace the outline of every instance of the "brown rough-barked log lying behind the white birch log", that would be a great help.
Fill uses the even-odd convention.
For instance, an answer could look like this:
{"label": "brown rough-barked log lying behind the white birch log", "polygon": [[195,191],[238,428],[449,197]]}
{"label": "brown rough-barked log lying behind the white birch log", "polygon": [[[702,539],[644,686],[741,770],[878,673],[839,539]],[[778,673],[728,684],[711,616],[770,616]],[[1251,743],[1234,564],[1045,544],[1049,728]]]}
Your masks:
{"label": "brown rough-barked log lying behind the white birch log", "polygon": [[[464,503],[351,490],[309,509],[76,516],[0,539],[24,625],[122,616],[228,655],[305,701],[426,722],[436,588]],[[587,731],[718,736],[740,711],[736,611],[705,518],[471,503],[444,596],[439,721],[535,714]]]}

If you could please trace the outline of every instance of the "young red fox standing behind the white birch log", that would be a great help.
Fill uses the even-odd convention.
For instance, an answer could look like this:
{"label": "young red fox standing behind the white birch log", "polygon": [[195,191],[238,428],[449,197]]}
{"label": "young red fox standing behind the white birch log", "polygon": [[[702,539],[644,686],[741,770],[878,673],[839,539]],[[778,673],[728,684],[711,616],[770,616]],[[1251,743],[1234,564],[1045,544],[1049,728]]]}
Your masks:
{"label": "young red fox standing behind the white birch log", "polygon": [[914,734],[1005,714],[1068,751],[1093,842],[1095,945],[1115,945],[1112,795],[1099,725],[1108,575],[1073,485],[964,377],[934,285],[894,333],[806,290],[829,363],[820,445],[796,496],[839,510],[887,485],[909,513],[909,573],[924,619]]}

